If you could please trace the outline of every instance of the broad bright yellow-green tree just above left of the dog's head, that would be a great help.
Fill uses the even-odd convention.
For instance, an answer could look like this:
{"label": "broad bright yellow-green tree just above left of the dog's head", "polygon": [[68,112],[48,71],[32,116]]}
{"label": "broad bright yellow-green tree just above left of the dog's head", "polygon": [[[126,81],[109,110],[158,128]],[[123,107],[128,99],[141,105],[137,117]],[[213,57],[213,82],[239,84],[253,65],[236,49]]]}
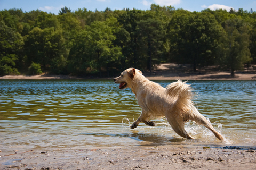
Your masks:
{"label": "broad bright yellow-green tree just above left of the dog's head", "polygon": [[95,21],[86,30],[81,30],[74,39],[69,53],[69,72],[74,74],[109,72],[109,68],[118,64],[121,48],[113,44],[113,35],[117,25],[115,18],[106,22]]}

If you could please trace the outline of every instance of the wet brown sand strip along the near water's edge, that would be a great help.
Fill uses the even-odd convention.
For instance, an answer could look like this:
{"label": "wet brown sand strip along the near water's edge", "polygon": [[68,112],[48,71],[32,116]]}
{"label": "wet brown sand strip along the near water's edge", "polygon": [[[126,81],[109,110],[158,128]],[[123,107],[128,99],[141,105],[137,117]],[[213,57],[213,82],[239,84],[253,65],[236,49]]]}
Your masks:
{"label": "wet brown sand strip along the near water's edge", "polygon": [[256,165],[255,150],[202,147],[45,148],[0,155],[0,169],[255,169]]}

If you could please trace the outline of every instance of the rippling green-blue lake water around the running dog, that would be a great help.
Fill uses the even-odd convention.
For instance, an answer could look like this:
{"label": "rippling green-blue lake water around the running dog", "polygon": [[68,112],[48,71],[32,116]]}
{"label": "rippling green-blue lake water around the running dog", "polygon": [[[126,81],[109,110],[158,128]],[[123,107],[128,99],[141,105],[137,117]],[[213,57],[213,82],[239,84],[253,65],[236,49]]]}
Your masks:
{"label": "rippling green-blue lake water around the running dog", "polygon": [[[173,81],[156,81],[163,87]],[[189,81],[199,112],[225,142],[193,122],[194,140],[175,134],[165,119],[157,126],[129,125],[141,112],[131,89],[112,80],[0,80],[0,148],[135,146],[256,146],[256,81]]]}

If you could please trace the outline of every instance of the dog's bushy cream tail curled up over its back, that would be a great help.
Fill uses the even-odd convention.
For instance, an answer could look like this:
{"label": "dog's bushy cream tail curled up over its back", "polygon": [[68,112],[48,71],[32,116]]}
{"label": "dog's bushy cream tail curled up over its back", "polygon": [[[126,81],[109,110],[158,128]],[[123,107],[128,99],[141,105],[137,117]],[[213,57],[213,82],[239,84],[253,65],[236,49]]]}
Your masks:
{"label": "dog's bushy cream tail curled up over its back", "polygon": [[174,105],[183,111],[190,110],[193,105],[191,100],[193,98],[193,92],[191,91],[190,85],[181,80],[169,84],[165,90],[165,94],[177,98]]}

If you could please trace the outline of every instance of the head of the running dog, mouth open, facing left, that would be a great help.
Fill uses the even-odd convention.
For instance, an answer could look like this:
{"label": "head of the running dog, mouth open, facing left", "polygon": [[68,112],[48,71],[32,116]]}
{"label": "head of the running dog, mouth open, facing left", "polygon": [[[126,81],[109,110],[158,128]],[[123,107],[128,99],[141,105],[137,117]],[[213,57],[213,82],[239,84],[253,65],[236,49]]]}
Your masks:
{"label": "head of the running dog, mouth open, facing left", "polygon": [[121,73],[121,75],[117,78],[114,78],[115,83],[119,83],[119,89],[123,90],[125,88],[131,88],[132,79],[136,74],[142,74],[142,72],[138,69],[126,69]]}

